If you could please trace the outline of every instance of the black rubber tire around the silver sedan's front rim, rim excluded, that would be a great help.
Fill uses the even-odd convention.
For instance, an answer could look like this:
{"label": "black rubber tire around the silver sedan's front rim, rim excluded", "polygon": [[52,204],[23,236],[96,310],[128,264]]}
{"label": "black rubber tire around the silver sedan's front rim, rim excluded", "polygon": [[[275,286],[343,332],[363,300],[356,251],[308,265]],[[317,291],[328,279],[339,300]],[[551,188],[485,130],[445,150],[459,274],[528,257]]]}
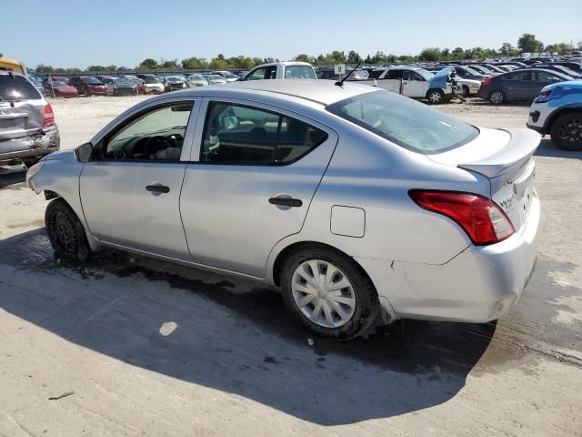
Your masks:
{"label": "black rubber tire around the silver sedan's front rim, rim excluded", "polygon": [[[51,226],[51,220],[56,212],[63,212],[74,224],[77,246],[75,253],[66,252],[60,248],[54,229]],[[59,259],[65,264],[75,265],[90,258],[91,249],[86,239],[85,228],[76,217],[75,211],[63,199],[55,198],[47,205],[45,210],[45,229],[51,246],[55,250],[55,259]]]}

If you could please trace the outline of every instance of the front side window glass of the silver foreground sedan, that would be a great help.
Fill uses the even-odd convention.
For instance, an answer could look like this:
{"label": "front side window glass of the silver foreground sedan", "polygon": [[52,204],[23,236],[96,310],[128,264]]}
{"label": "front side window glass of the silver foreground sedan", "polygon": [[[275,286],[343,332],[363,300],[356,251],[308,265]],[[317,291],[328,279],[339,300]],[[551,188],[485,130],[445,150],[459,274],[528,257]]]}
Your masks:
{"label": "front side window glass of the silver foreground sedan", "polygon": [[179,161],[192,102],[158,107],[105,141],[105,159]]}

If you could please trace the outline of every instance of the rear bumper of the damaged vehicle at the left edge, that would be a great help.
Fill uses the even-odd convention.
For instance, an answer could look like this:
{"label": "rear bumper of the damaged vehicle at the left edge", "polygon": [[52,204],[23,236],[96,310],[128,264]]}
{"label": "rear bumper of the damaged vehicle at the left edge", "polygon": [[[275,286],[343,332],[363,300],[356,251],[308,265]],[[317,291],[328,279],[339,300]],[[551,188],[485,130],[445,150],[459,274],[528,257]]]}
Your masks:
{"label": "rear bumper of the damaged vehicle at the left edge", "polygon": [[0,162],[44,157],[59,149],[58,128],[47,127],[41,133],[15,139],[0,140]]}

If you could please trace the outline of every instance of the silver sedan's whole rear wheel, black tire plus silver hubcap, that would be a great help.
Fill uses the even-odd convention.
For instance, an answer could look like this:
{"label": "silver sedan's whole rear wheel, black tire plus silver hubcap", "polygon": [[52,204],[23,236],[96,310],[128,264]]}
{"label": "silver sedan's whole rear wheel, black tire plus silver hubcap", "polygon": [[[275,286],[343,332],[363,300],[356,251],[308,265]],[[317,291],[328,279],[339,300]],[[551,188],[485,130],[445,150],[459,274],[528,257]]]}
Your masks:
{"label": "silver sedan's whole rear wheel, black tire plus silver hubcap", "polygon": [[280,279],[287,310],[321,337],[353,339],[378,317],[380,303],[371,279],[354,259],[336,250],[316,245],[296,249],[286,257]]}

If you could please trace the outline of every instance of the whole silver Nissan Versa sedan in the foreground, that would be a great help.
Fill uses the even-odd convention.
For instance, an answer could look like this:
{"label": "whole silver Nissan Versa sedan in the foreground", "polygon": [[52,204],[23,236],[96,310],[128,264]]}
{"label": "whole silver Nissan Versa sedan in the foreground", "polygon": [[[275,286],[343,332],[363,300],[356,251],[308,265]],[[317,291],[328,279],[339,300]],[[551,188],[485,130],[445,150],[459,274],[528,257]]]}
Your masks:
{"label": "whole silver Nissan Versa sedan in the foreground", "polygon": [[123,249],[255,279],[317,334],[486,322],[537,258],[529,129],[467,125],[373,86],[200,86],[127,110],[27,182],[55,257]]}

